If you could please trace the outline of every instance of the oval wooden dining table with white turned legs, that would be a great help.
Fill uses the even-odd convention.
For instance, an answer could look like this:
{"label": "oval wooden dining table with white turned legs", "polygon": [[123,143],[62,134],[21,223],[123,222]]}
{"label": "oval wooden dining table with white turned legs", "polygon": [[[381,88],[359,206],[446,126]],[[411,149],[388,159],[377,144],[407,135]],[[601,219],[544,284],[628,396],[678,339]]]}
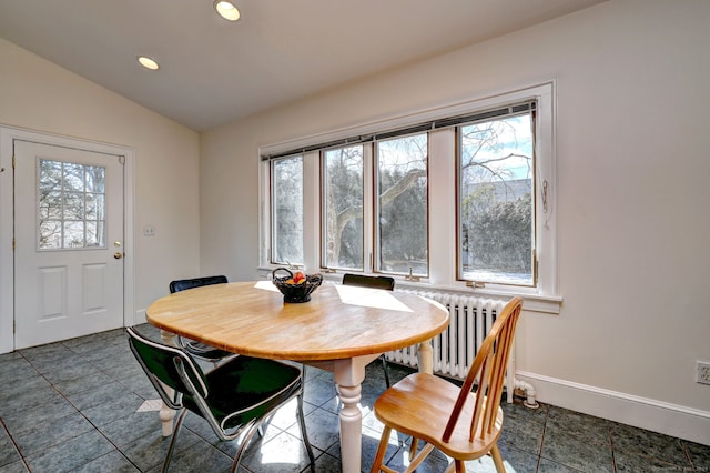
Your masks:
{"label": "oval wooden dining table with white turned legs", "polygon": [[[145,315],[162,329],[168,343],[181,335],[233,353],[332,371],[342,403],[341,455],[346,473],[361,471],[358,403],[365,366],[384,352],[418,344],[419,371],[430,373],[429,340],[449,322],[442,304],[415,294],[325,283],[311,301],[286,303],[271,281],[176,292],[153,302]],[[172,415],[163,412],[161,420],[169,434]]]}

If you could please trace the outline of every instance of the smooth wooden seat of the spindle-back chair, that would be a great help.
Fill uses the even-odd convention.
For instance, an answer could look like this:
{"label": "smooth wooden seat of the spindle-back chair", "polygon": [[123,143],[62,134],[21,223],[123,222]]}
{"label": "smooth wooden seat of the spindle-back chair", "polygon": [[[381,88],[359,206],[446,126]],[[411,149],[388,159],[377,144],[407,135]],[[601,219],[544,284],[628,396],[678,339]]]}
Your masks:
{"label": "smooth wooden seat of the spindle-back chair", "polygon": [[468,401],[454,430],[452,440],[445,443],[442,437],[444,429],[454,410],[460,388],[442,378],[413,373],[385,391],[375,402],[375,416],[385,425],[424,440],[449,456],[457,459],[476,459],[480,452],[486,453],[489,445],[500,435],[503,410],[498,407],[495,429],[481,435],[476,433],[469,440],[470,419],[475,394]]}

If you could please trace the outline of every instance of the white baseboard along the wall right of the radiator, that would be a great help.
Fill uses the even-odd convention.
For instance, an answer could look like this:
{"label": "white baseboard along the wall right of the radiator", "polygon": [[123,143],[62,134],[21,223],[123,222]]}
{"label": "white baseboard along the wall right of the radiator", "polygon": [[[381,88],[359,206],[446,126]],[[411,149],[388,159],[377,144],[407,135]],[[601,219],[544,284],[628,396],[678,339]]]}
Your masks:
{"label": "white baseboard along the wall right of the radiator", "polygon": [[710,412],[587,384],[516,371],[540,402],[710,445]]}

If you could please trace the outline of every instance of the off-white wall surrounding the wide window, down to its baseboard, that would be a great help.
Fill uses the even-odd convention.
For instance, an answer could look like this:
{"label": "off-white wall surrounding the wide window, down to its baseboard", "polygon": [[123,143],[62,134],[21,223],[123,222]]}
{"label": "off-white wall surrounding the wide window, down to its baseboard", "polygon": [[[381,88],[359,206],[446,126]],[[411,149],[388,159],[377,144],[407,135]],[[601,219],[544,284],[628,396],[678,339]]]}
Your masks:
{"label": "off-white wall surrounding the wide window, down to its baseboard", "polygon": [[256,276],[258,145],[552,79],[564,303],[521,320],[519,374],[710,444],[709,19],[706,0],[612,0],[203,133],[202,270]]}

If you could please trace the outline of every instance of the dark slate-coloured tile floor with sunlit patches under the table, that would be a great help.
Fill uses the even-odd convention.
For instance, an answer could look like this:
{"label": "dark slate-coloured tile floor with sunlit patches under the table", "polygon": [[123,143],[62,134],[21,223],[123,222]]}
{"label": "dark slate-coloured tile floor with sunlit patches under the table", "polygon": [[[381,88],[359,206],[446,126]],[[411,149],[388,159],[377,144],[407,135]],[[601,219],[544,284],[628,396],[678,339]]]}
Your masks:
{"label": "dark slate-coloured tile floor with sunlit patches under the table", "polygon": [[[158,336],[150,325],[141,331]],[[390,366],[393,378],[408,371]],[[128,349],[123,330],[0,355],[0,473],[155,472],[169,440],[161,435],[158,396]],[[369,471],[381,425],[372,414],[384,390],[379,363],[363,385],[363,471]],[[307,369],[305,414],[317,472],[339,471],[337,399],[328,372]],[[710,446],[564,409],[506,404],[500,451],[509,472],[710,472]],[[295,402],[282,409],[250,446],[242,472],[300,472],[307,456],[298,440]],[[404,441],[404,439],[402,439]],[[221,443],[187,414],[171,472],[229,471],[233,444]],[[406,463],[393,442],[388,464]],[[432,455],[419,472],[447,465]],[[495,471],[489,457],[469,471]]]}

